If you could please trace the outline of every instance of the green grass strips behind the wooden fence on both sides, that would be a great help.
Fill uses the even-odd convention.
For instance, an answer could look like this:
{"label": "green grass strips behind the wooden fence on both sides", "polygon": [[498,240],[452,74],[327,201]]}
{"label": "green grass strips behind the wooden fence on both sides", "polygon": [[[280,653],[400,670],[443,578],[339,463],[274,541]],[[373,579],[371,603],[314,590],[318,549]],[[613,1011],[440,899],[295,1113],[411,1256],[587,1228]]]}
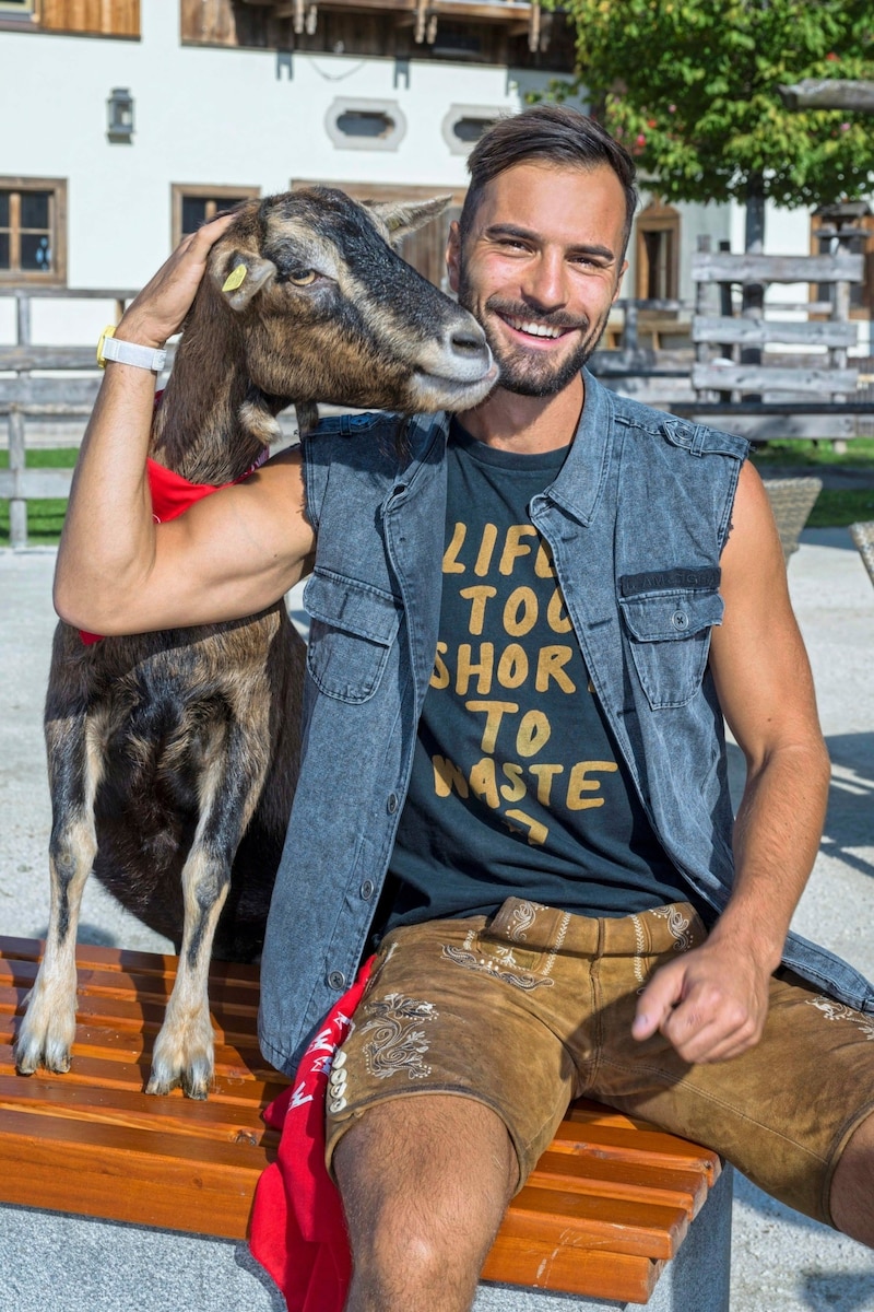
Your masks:
{"label": "green grass strips behind the wooden fence on both sides", "polygon": [[[34,449],[28,451],[28,467],[33,470],[72,468],[77,449]],[[836,455],[831,442],[769,442],[753,451],[753,463],[763,474],[769,467],[793,466],[810,468],[819,466],[849,466],[874,472],[874,438],[854,437],[848,442],[845,455]],[[0,468],[9,468],[9,453],[0,451]],[[63,500],[28,502],[28,541],[31,546],[54,546],[60,538],[67,502]],[[811,529],[845,527],[857,520],[874,520],[874,487],[823,488],[807,521]],[[9,546],[9,502],[0,501],[0,547]]]}

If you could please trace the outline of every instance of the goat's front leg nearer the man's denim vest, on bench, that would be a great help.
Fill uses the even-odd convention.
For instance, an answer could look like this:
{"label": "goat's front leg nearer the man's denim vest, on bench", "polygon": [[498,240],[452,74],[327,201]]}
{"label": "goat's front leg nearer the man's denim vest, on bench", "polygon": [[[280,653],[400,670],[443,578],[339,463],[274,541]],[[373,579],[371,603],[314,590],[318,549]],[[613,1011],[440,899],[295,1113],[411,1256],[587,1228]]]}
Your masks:
{"label": "goat's front leg nearer the man's denim vest, on bench", "polygon": [[[231,884],[231,866],[252,819],[265,768],[245,750],[246,735],[231,727],[228,744],[215,750],[200,779],[200,819],[182,869],[185,926],[182,949],[161,1031],[155,1040],[147,1093],[169,1093],[177,1084],[190,1098],[206,1098],[212,1084],[214,1038],[208,972],[215,929]],[[218,757],[218,760],[216,760]]]}

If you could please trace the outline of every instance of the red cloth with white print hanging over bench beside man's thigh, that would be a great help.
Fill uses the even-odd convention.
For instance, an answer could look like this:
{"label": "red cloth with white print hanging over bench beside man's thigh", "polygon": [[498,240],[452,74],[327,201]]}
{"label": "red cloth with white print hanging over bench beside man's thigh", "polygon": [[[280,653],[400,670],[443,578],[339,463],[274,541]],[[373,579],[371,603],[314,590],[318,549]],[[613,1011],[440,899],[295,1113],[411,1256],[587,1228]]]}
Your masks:
{"label": "red cloth with white print hanging over bench beside man's thigh", "polygon": [[343,1207],[325,1168],[325,1094],[372,964],[371,956],[325,1017],[291,1085],[263,1113],[282,1139],[276,1161],[258,1181],[249,1246],[284,1294],[288,1312],[342,1312],[349,1292]]}

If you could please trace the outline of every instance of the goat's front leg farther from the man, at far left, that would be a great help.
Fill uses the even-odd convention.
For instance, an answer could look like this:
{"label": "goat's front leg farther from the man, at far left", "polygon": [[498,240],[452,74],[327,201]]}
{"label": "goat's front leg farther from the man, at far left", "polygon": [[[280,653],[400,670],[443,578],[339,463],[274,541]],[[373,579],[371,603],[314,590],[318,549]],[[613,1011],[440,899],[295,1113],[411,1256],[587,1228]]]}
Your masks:
{"label": "goat's front leg farther from the man, at far left", "polygon": [[39,1065],[69,1069],[76,1036],[76,929],[97,854],[94,796],[104,765],[90,736],[85,715],[46,724],[51,901],[46,951],[16,1038],[16,1065],[22,1075],[33,1075]]}

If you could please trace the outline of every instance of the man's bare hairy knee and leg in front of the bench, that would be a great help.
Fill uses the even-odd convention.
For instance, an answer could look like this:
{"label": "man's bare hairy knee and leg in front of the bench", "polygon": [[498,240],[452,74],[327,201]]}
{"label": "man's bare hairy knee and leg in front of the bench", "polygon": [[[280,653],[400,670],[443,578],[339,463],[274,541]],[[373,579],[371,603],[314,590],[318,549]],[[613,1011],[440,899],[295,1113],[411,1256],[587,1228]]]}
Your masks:
{"label": "man's bare hairy knee and leg in front of the bench", "polygon": [[518,1181],[503,1120],[472,1098],[392,1098],[341,1139],[334,1170],[352,1249],[346,1312],[468,1312]]}

